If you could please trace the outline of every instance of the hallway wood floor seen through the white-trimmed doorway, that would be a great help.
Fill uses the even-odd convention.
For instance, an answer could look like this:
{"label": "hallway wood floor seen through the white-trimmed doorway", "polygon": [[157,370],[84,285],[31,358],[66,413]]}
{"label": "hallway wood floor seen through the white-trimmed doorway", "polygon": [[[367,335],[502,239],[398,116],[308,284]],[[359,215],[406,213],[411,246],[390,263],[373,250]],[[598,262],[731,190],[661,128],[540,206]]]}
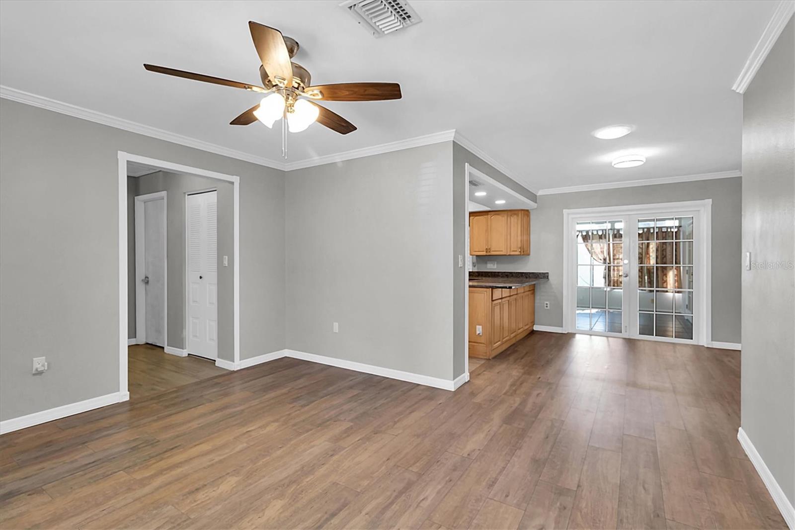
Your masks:
{"label": "hallway wood floor seen through the white-trimmed doorway", "polygon": [[150,344],[128,346],[127,367],[127,388],[133,400],[227,373],[212,360],[176,357]]}

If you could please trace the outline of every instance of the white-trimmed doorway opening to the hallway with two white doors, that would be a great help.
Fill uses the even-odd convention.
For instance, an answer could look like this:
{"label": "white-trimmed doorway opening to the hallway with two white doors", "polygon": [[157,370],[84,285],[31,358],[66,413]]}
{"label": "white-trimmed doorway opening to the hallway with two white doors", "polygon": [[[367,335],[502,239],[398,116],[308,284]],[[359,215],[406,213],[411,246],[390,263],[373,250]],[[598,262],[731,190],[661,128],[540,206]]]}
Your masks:
{"label": "white-trimmed doorway opening to the hallway with two white doors", "polygon": [[138,399],[238,364],[239,179],[118,159],[119,387]]}

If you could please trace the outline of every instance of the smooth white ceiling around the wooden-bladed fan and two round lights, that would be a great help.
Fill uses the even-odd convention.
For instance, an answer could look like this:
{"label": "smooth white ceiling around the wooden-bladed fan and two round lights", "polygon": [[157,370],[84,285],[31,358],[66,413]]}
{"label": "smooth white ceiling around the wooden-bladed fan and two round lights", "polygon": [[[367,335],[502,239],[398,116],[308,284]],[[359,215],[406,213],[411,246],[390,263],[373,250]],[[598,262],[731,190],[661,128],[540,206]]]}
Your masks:
{"label": "smooth white ceiling around the wooden-bladed fan and two round lights", "polygon": [[[251,92],[144,62],[258,82],[247,22],[296,38],[315,83],[397,81],[403,99],[327,103],[359,131],[289,134],[290,162],[455,129],[530,189],[739,170],[731,85],[774,0],[419,2],[375,39],[339,2],[0,2],[0,84],[280,160],[279,131],[229,121]],[[591,131],[615,124],[618,140]],[[617,154],[646,165],[615,170]]]}

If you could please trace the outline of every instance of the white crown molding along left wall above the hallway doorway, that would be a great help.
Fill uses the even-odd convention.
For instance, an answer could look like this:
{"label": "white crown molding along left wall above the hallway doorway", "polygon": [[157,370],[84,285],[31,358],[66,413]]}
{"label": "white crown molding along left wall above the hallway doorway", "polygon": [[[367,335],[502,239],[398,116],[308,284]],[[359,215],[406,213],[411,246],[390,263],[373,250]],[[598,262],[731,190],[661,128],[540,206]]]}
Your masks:
{"label": "white crown molding along left wall above the hallway doorway", "polygon": [[220,154],[229,158],[237,158],[238,160],[251,162],[258,164],[259,166],[270,167],[274,170],[285,170],[284,163],[270,160],[270,158],[258,157],[253,154],[243,153],[242,151],[229,149],[228,147],[219,146],[214,143],[203,142],[202,140],[197,140],[196,138],[190,138],[188,136],[183,136],[182,134],[164,131],[162,129],[157,129],[156,127],[149,127],[143,123],[131,122],[129,119],[118,118],[116,116],[104,114],[103,112],[91,111],[90,109],[78,107],[76,105],[72,105],[71,103],[64,103],[63,101],[46,98],[42,95],[36,95],[31,94],[30,92],[17,90],[16,88],[0,85],[0,98],[10,99],[12,101],[25,103],[27,105],[33,105],[33,107],[44,108],[48,111],[59,112],[60,114],[74,116],[75,118],[87,119],[90,122],[115,127],[117,129],[130,131],[136,134],[143,134],[144,136],[149,136],[150,138],[165,140],[165,142],[178,143],[180,146],[192,147],[194,149],[207,151],[208,153]]}

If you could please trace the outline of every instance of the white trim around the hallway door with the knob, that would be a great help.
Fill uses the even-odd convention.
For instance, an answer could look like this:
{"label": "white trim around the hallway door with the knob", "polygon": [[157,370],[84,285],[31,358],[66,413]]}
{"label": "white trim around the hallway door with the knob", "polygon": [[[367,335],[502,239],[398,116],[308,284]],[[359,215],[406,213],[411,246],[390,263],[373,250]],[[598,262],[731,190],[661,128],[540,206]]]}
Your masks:
{"label": "white trim around the hallway door with the knob", "polygon": [[169,343],[169,202],[166,192],[146,193],[135,196],[135,338],[138,344],[146,342],[146,290],[143,283],[145,269],[144,203],[163,201],[163,341]]}

